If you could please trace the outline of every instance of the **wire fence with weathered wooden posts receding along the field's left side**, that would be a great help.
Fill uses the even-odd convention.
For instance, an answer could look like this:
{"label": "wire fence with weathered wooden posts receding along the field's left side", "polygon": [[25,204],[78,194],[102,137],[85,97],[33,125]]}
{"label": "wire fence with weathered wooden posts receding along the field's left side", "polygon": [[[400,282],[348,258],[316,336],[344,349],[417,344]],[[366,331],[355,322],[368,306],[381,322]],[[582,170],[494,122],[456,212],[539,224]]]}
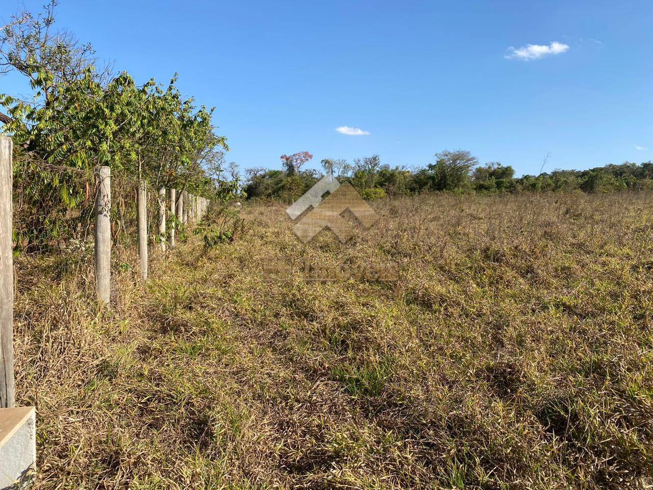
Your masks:
{"label": "wire fence with weathered wooden posts receding along the field's left side", "polygon": [[[109,167],[50,165],[31,155],[14,161],[0,136],[0,407],[14,406],[14,258],[56,257],[62,272],[93,270],[97,299],[111,305],[112,271],[138,250],[145,281],[151,250],[174,246],[199,223],[208,199],[136,180]],[[92,265],[92,266],[91,266]]]}

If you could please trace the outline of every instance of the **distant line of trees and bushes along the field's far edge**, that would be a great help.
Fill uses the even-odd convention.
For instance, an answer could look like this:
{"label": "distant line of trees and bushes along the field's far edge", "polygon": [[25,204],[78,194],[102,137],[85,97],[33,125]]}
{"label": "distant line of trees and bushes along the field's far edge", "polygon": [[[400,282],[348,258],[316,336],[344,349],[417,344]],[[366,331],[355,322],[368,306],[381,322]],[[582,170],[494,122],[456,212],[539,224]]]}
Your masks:
{"label": "distant line of trees and bushes along the field's far edge", "polygon": [[[499,162],[480,165],[478,158],[466,150],[444,150],[435,154],[433,163],[418,169],[390,167],[381,163],[379,155],[372,155],[354,159],[353,163],[327,158],[321,161],[322,171],[302,170],[311,157],[308,152],[283,155],[282,170],[263,167],[247,169],[244,192],[248,198],[293,201],[325,173],[333,174],[340,182],[349,182],[364,199],[428,191],[602,193],[653,189],[651,161],[641,164],[626,161],[620,165],[610,164],[582,171],[556,170],[515,177],[515,170],[510,165]],[[547,161],[548,156],[545,164]]]}

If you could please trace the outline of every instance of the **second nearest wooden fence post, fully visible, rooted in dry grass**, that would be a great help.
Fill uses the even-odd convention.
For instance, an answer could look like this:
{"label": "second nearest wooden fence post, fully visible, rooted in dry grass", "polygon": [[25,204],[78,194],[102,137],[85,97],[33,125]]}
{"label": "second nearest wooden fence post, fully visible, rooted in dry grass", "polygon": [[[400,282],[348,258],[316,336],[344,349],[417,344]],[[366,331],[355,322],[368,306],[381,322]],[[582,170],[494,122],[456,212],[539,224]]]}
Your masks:
{"label": "second nearest wooden fence post, fully visible, rooted in dry grass", "polygon": [[111,294],[111,170],[97,167],[95,194],[95,286],[97,297],[108,304]]}

